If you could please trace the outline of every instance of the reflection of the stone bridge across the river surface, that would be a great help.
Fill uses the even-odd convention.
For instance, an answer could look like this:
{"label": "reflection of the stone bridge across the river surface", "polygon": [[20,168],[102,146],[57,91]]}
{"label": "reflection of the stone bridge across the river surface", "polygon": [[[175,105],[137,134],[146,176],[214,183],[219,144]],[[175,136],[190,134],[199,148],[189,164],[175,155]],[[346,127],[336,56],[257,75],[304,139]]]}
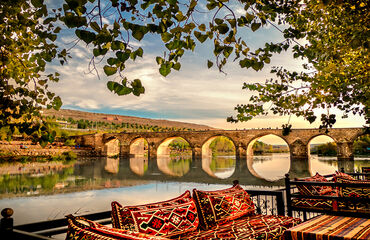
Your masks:
{"label": "reflection of the stone bridge across the river surface", "polygon": [[[351,163],[352,162],[352,163]],[[266,166],[267,167],[267,166]],[[273,166],[272,166],[273,167]],[[353,161],[339,161],[338,167],[353,171]],[[171,158],[164,156],[157,161],[147,157],[135,156],[131,158],[99,158],[89,164],[75,167],[74,174],[84,178],[109,178],[117,180],[146,180],[146,181],[178,181],[197,182],[207,184],[229,184],[238,179],[243,185],[255,186],[283,186],[283,176],[272,181],[265,179],[248,166],[246,160],[232,157],[204,158],[194,160],[186,157]],[[311,176],[310,165],[306,160],[295,161],[291,165],[289,174],[292,177]]]}

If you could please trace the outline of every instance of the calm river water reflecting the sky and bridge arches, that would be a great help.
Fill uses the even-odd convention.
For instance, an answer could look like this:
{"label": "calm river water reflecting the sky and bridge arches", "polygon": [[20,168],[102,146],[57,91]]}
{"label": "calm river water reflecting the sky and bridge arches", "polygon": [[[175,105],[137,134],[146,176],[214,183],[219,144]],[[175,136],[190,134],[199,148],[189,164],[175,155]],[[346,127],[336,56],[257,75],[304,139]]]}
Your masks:
{"label": "calm river water reflecting the sky and bridge arches", "polygon": [[283,177],[348,172],[370,166],[368,158],[337,161],[336,157],[311,156],[291,163],[289,154],[254,156],[236,160],[230,156],[144,157],[83,159],[75,163],[0,166],[0,209],[11,207],[15,225],[87,214],[110,209],[112,201],[136,205],[163,201],[185,190],[216,190],[238,179],[246,189],[277,189]]}

